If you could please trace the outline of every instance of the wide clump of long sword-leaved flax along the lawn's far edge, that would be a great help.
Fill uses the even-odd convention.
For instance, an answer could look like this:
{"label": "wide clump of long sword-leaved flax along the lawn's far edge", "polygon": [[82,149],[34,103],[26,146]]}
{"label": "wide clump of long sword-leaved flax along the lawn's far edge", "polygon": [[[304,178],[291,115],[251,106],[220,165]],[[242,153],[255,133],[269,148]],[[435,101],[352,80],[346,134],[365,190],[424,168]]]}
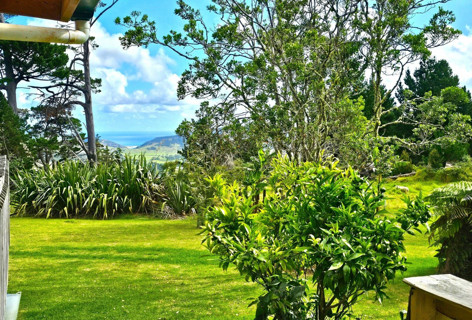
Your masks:
{"label": "wide clump of long sword-leaved flax along the lawn's far edge", "polygon": [[13,177],[13,214],[34,217],[93,217],[154,211],[160,188],[157,166],[141,156],[126,156],[106,166],[78,161],[56,168],[17,170]]}

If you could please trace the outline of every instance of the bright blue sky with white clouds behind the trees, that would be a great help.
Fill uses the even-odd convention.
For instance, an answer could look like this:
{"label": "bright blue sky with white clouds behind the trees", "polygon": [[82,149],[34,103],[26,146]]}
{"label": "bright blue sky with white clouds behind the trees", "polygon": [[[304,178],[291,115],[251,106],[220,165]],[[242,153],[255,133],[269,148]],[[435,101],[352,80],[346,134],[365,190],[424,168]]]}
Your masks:
{"label": "bright blue sky with white clouds behind the trees", "polygon": [[[210,1],[187,1],[195,8]],[[447,46],[435,49],[439,59],[447,59],[461,84],[472,88],[472,7],[471,0],[453,0],[442,6],[455,12],[455,27],[463,35]],[[158,45],[148,48],[123,50],[118,36],[125,32],[114,24],[115,17],[123,17],[132,10],[147,13],[156,21],[160,34],[181,30],[182,20],[174,15],[175,1],[119,0],[94,25],[91,35],[99,48],[92,52],[92,76],[102,79],[101,93],[93,96],[96,131],[174,131],[184,118],[192,118],[199,101],[177,101],[177,81],[188,65],[185,59]],[[18,17],[14,23],[54,26],[55,22]],[[412,66],[414,68],[414,66]],[[23,84],[25,86],[25,84]],[[27,108],[36,101],[27,100],[23,89],[19,107]],[[83,119],[82,110],[75,116]]]}

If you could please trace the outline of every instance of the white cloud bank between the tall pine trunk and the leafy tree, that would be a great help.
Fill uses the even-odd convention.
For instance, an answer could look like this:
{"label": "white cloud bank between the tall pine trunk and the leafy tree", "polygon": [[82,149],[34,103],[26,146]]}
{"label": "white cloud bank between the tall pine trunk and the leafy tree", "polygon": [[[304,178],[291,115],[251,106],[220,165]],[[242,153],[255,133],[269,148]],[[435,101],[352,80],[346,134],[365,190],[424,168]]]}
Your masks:
{"label": "white cloud bank between the tall pine trunk and the leafy tree", "polygon": [[[54,21],[42,19],[32,19],[28,24],[57,25]],[[122,34],[108,33],[100,21],[93,25],[90,34],[98,44],[90,55],[91,76],[101,78],[102,84],[101,93],[93,95],[98,109],[148,114],[197,109],[199,101],[195,99],[177,100],[180,77],[169,68],[176,63],[162,48],[154,55],[143,47],[124,50],[119,42]],[[72,56],[73,53],[69,52],[69,57]]]}

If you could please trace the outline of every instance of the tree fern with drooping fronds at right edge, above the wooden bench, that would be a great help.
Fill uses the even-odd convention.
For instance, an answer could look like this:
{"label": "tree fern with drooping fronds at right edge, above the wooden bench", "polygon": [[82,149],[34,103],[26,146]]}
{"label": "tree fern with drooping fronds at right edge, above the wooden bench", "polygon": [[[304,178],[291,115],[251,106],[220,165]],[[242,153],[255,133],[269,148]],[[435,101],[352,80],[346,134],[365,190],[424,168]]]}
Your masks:
{"label": "tree fern with drooping fronds at right edge, above the wooden bench", "polygon": [[472,279],[472,182],[437,188],[428,199],[438,207],[430,242],[438,247],[439,271]]}

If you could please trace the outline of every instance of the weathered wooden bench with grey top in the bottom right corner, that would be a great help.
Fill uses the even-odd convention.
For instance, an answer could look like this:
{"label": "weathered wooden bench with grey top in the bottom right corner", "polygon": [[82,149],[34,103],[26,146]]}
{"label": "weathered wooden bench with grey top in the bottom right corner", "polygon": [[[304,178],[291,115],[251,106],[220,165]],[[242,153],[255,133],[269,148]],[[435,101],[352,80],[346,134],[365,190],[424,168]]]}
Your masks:
{"label": "weathered wooden bench with grey top in the bottom right corner", "polygon": [[472,282],[450,274],[403,279],[409,320],[472,320]]}

